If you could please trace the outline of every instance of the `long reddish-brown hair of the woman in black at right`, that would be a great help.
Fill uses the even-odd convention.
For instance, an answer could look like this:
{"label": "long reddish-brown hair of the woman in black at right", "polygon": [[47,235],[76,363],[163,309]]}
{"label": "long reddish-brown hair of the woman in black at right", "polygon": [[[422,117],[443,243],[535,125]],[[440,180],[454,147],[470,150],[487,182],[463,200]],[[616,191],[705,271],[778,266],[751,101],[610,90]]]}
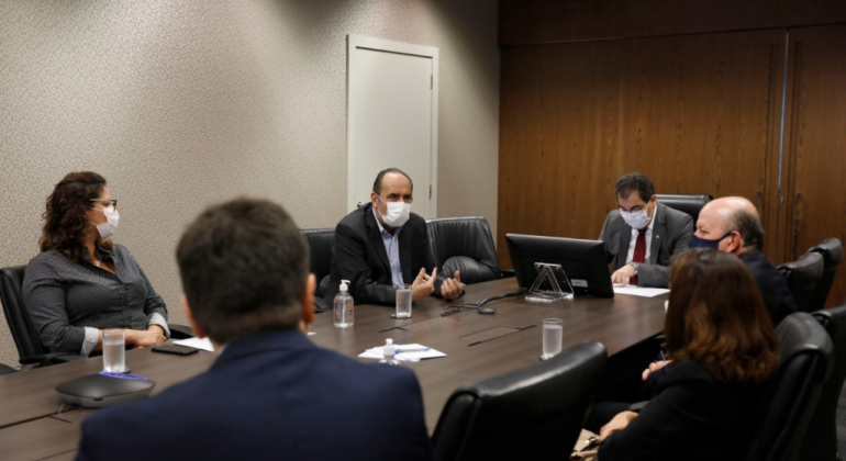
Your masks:
{"label": "long reddish-brown hair of the woman in black at right", "polygon": [[664,335],[670,360],[690,359],[722,383],[760,383],[778,368],[778,339],[758,284],[728,252],[676,255]]}

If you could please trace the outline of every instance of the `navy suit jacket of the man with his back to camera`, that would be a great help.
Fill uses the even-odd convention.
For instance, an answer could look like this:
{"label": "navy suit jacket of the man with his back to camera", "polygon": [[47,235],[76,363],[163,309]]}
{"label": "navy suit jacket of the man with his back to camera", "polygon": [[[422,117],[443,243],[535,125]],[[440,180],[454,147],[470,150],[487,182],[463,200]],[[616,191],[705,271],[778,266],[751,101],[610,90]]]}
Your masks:
{"label": "navy suit jacket of the man with his back to camera", "polygon": [[[185,360],[191,360],[190,357]],[[364,364],[299,330],[230,342],[162,394],[97,411],[77,460],[432,460],[414,373]]]}

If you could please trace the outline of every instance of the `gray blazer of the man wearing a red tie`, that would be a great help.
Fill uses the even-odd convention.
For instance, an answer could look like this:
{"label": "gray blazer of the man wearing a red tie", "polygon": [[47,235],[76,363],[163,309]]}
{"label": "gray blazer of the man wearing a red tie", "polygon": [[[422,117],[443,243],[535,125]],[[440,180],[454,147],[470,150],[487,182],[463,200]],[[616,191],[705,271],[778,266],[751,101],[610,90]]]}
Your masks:
{"label": "gray blazer of the man wearing a red tie", "polygon": [[[667,288],[670,281],[670,258],[688,248],[692,235],[693,218],[659,202],[649,244],[649,261],[637,269],[637,286]],[[599,239],[605,244],[608,261],[614,262],[613,270],[625,266],[632,226],[623,221],[619,211],[608,214]]]}

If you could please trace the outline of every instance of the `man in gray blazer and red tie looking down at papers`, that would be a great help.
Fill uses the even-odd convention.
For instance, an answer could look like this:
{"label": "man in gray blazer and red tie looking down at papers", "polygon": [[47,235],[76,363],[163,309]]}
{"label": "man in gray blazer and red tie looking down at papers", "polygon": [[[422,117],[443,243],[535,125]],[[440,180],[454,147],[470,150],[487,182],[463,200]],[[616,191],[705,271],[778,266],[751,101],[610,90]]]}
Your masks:
{"label": "man in gray blazer and red tie looking down at papers", "polygon": [[608,214],[599,239],[613,261],[614,283],[667,288],[672,255],[688,248],[693,218],[658,203],[646,175],[623,175],[614,184],[620,210]]}

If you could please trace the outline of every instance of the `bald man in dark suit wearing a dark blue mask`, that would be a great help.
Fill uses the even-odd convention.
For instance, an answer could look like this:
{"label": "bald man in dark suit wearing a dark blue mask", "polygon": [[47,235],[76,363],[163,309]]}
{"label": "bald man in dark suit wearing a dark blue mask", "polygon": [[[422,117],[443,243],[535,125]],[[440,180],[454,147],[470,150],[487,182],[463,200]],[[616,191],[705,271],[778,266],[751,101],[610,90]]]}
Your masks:
{"label": "bald man in dark suit wearing a dark blue mask", "polygon": [[758,211],[748,200],[724,196],[709,202],[699,213],[690,247],[711,247],[741,258],[758,283],[772,325],[797,312],[784,277],[761,254],[764,227]]}

